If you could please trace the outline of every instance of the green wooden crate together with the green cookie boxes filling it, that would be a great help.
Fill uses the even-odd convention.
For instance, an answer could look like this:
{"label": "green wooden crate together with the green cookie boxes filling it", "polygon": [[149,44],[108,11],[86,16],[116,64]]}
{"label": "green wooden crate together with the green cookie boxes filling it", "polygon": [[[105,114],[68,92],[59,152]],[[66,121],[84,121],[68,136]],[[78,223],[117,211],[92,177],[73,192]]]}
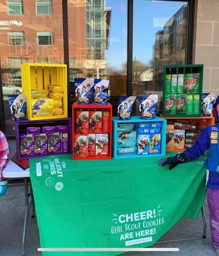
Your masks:
{"label": "green wooden crate together with the green cookie boxes filling it", "polygon": [[163,116],[200,117],[203,65],[163,68]]}

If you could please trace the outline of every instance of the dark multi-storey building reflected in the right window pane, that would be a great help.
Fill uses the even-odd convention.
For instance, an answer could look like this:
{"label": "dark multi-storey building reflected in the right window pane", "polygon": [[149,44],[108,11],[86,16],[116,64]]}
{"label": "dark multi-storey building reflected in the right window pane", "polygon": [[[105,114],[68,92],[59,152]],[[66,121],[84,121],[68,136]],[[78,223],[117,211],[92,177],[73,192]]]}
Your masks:
{"label": "dark multi-storey building reflected in the right window pane", "polygon": [[186,54],[188,5],[181,8],[158,30],[153,46],[153,66],[156,86],[163,85],[163,66],[184,64]]}

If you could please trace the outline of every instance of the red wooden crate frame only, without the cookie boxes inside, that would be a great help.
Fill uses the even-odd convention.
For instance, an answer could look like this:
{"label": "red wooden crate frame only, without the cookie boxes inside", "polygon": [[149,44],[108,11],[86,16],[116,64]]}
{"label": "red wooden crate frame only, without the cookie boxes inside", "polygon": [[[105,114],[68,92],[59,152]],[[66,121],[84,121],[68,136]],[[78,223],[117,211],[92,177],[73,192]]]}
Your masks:
{"label": "red wooden crate frame only, without the cookie boxes inside", "polygon": [[[75,116],[76,116],[76,111],[77,110],[82,110],[82,111],[94,111],[94,110],[108,110],[109,111],[109,137],[108,137],[108,154],[107,155],[88,155],[88,157],[78,157],[75,156],[74,152],[74,144],[75,144],[75,139],[74,135],[76,133],[75,129]],[[82,134],[82,133],[81,133]],[[91,132],[92,134],[92,132]],[[98,134],[106,134],[106,133],[98,133]],[[106,159],[111,159],[112,158],[112,105],[108,103],[107,105],[95,105],[95,104],[77,104],[74,102],[72,104],[72,152],[73,152],[73,159],[74,160],[106,160]]]}

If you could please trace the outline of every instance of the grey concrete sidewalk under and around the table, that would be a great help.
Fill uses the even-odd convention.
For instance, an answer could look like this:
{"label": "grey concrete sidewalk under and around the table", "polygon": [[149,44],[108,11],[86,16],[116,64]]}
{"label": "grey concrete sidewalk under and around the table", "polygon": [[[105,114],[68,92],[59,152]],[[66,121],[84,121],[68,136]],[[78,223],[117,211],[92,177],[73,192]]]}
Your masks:
{"label": "grey concrete sidewalk under and around the table", "polygon": [[[8,192],[0,198],[0,256],[20,256],[24,222],[24,186],[10,184]],[[205,202],[207,238],[202,239],[203,222],[201,214],[196,220],[182,219],[167,232],[153,247],[177,247],[179,252],[130,252],[125,256],[216,256],[211,245],[209,212]],[[175,241],[180,240],[180,241]],[[37,219],[29,218],[27,229],[27,256],[41,256]],[[73,255],[73,254],[72,254]],[[78,253],[75,253],[75,256]],[[104,254],[103,254],[104,255]]]}

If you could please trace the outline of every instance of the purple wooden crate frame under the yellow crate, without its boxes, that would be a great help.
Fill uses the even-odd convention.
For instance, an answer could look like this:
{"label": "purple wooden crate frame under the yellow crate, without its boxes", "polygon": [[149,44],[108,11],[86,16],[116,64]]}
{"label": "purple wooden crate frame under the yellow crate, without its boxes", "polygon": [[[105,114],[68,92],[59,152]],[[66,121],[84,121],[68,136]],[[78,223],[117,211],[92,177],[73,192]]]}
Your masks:
{"label": "purple wooden crate frame under the yellow crate, without its boxes", "polygon": [[[20,127],[21,126],[34,126],[34,125],[68,125],[69,126],[69,153],[66,154],[72,154],[72,120],[70,117],[67,118],[59,118],[59,119],[49,119],[49,120],[34,120],[30,121],[28,119],[21,120],[21,121],[15,121],[15,134],[16,134],[16,151],[18,155],[18,159],[29,159],[29,158],[39,158],[40,155],[30,155],[30,156],[21,156],[20,154]],[[55,154],[55,153],[54,153]],[[63,154],[63,153],[57,153],[57,154]],[[42,156],[46,156],[48,154],[44,154]],[[51,156],[51,154],[50,154]]]}

